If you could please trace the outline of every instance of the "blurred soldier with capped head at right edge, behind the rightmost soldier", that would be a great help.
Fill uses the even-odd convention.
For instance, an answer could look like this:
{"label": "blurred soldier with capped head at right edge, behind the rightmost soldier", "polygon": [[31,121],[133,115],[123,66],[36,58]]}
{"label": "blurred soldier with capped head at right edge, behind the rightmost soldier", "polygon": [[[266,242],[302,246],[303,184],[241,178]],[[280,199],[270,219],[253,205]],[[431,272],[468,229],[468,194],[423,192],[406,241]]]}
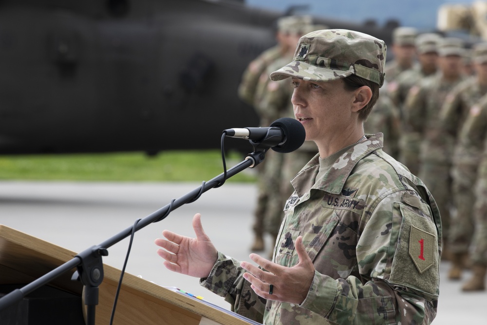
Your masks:
{"label": "blurred soldier with capped head at right edge, behind the rightmost soldier", "polygon": [[[448,234],[448,247],[452,267],[449,272],[450,279],[460,279],[462,269],[468,260],[468,247],[473,233],[472,207],[475,192],[473,185],[477,174],[478,159],[463,152],[459,147],[458,135],[467,118],[470,108],[480,98],[487,94],[487,43],[474,45],[472,52],[472,65],[475,76],[469,77],[453,88],[450,95],[445,98],[440,112],[440,126],[442,129],[438,141],[444,142],[448,156],[452,156],[452,200],[454,210],[451,214],[450,232]],[[446,234],[446,233],[445,233]]]}

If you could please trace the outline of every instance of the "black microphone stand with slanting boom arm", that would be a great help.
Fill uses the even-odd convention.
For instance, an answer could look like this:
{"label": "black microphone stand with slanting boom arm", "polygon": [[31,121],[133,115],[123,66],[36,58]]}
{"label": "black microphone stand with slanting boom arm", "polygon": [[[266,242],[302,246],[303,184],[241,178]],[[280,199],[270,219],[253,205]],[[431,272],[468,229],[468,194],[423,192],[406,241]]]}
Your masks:
{"label": "black microphone stand with slanting boom arm", "polygon": [[[98,305],[98,287],[103,282],[103,262],[102,256],[108,256],[108,248],[112,247],[114,244],[120,242],[121,240],[125,239],[126,237],[130,236],[133,231],[140,230],[153,222],[158,222],[163,220],[169,215],[169,212],[175,210],[186,203],[191,203],[196,201],[201,194],[208,191],[211,188],[217,187],[234,175],[239,172],[242,172],[244,169],[250,167],[253,168],[260,164],[264,160],[264,154],[269,149],[269,146],[265,145],[254,145],[254,149],[256,150],[253,153],[249,153],[244,161],[240,162],[239,164],[235,165],[234,167],[230,168],[226,171],[226,178],[225,173],[221,173],[220,175],[214,177],[208,182],[203,182],[203,184],[199,187],[194,189],[193,191],[188,192],[187,194],[183,195],[179,199],[173,199],[171,203],[166,205],[165,207],[152,212],[150,215],[141,219],[138,223],[129,227],[125,230],[122,230],[118,234],[114,235],[112,238],[104,241],[103,243],[92,246],[89,249],[82,251],[81,253],[77,254],[73,259],[64,263],[63,265],[55,268],[54,270],[46,273],[45,275],[41,276],[37,280],[31,282],[30,284],[21,287],[20,289],[15,289],[12,292],[6,294],[2,298],[0,298],[0,310],[6,308],[16,302],[22,300],[27,294],[31,293],[32,291],[36,290],[39,287],[42,287],[52,280],[56,279],[61,274],[71,270],[72,268],[77,269],[72,276],[72,280],[80,280],[83,285],[85,286],[85,305],[87,306],[87,324],[94,325],[95,321],[95,307]],[[257,151],[260,149],[261,151]]]}

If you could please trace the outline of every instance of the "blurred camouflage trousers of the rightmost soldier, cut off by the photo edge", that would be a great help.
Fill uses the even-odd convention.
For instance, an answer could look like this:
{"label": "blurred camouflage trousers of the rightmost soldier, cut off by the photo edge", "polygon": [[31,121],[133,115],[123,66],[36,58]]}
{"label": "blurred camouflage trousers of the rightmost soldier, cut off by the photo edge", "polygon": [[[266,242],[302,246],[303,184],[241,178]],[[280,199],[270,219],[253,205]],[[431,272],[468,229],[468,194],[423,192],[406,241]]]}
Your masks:
{"label": "blurred camouflage trousers of the rightmost soldier, cut off by the photo edge", "polygon": [[478,179],[475,186],[477,198],[474,205],[475,230],[470,259],[475,264],[487,264],[487,178]]}

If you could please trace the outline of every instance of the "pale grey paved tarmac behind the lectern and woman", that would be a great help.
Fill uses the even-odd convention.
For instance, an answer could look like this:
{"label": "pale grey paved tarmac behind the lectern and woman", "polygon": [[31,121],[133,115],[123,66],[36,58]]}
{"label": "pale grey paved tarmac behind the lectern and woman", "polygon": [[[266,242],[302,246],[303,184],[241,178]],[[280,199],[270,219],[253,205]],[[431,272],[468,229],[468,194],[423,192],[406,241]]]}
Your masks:
{"label": "pale grey paved tarmac behind the lectern and woman", "polygon": [[[199,183],[71,183],[0,181],[0,224],[76,252],[102,243],[130,227],[138,218],[198,188]],[[158,223],[135,233],[126,272],[167,287],[179,287],[229,309],[223,298],[198,285],[198,279],[167,270],[156,254],[154,239],[163,229],[193,235],[191,219],[202,214],[203,227],[217,249],[249,260],[257,189],[251,184],[226,183],[196,201],[172,211]],[[266,238],[270,248],[270,238]],[[122,268],[126,238],[109,248],[105,264]],[[264,252],[263,256],[268,253]],[[440,266],[440,300],[436,325],[487,324],[487,293],[463,293],[461,282],[446,278],[448,262]],[[465,273],[465,279],[469,277]]]}

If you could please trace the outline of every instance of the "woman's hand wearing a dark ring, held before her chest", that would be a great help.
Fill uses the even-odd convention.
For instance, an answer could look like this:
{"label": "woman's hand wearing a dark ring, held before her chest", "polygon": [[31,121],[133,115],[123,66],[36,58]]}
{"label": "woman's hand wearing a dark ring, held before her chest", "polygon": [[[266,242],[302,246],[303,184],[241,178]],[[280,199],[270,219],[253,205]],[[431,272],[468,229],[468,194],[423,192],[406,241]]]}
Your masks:
{"label": "woman's hand wearing a dark ring, held before her chest", "polygon": [[[304,301],[315,275],[315,267],[304,248],[301,236],[296,239],[296,251],[300,261],[292,268],[272,263],[257,254],[250,254],[250,258],[268,272],[247,262],[240,264],[247,270],[244,278],[251,283],[250,287],[255,293],[265,299],[295,305]],[[269,293],[270,285],[273,286],[272,294]]]}

